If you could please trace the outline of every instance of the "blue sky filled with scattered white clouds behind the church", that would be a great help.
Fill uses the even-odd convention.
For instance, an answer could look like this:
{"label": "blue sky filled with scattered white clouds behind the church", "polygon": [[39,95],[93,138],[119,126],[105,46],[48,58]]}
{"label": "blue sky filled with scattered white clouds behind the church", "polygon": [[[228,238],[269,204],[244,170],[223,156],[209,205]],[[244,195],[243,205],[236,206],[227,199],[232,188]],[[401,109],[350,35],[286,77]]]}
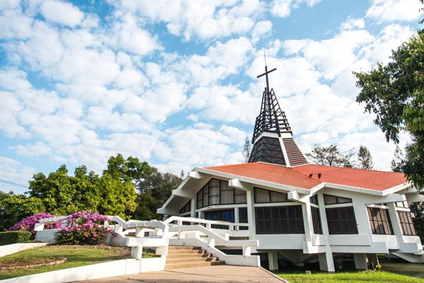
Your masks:
{"label": "blue sky filled with scattered white clouds behind the church", "polygon": [[[418,0],[0,2],[0,190],[118,153],[179,174],[242,162],[270,85],[300,149],[387,143],[352,71],[389,62]],[[401,147],[408,141],[405,134]],[[11,185],[4,181],[23,185]]]}

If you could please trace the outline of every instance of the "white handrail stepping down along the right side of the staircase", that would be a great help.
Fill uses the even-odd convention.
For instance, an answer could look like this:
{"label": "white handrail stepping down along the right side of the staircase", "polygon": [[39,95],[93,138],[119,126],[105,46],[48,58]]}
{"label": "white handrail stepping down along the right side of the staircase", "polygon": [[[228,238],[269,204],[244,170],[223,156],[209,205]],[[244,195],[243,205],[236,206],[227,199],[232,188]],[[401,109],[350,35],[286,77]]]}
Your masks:
{"label": "white handrail stepping down along the right side of the staircase", "polygon": [[185,231],[200,231],[204,235],[208,236],[208,246],[211,248],[215,247],[216,242],[227,247],[242,247],[243,256],[250,256],[251,247],[259,247],[258,240],[227,240],[220,236],[218,233],[207,229],[201,225],[187,225],[187,226],[170,226],[170,232],[178,232],[178,238],[182,238],[182,232]]}

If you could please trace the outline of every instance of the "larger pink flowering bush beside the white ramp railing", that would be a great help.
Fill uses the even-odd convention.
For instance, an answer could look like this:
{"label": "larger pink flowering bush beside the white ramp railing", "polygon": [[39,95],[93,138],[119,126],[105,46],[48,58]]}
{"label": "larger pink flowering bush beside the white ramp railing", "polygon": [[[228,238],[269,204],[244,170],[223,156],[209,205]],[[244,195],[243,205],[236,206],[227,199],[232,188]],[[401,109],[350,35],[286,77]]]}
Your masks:
{"label": "larger pink flowering bush beside the white ramp railing", "polygon": [[109,217],[98,212],[76,212],[66,220],[68,225],[56,233],[59,245],[94,245],[109,233],[116,236],[111,229],[102,226],[104,221],[110,221]]}

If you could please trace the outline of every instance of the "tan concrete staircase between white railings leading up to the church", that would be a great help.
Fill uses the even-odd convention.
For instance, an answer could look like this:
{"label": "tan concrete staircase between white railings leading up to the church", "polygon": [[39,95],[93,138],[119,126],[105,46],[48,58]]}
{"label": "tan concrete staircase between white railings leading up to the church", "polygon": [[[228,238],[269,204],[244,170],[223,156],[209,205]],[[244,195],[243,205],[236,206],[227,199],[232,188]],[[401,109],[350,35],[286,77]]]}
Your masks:
{"label": "tan concrete staircase between white railings leading up to the church", "polygon": [[165,270],[224,264],[224,261],[206,253],[206,250],[201,250],[200,247],[169,246]]}

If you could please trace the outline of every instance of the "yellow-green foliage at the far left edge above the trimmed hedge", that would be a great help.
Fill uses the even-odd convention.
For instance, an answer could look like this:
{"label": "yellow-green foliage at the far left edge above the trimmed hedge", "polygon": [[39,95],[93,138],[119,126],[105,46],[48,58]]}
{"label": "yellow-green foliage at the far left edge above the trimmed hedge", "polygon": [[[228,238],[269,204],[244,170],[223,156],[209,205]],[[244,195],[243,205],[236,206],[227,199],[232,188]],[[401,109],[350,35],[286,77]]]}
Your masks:
{"label": "yellow-green foliage at the far left edge above the trimmed hedge", "polygon": [[0,192],[0,231],[8,230],[22,219],[44,211],[42,200],[37,197]]}

